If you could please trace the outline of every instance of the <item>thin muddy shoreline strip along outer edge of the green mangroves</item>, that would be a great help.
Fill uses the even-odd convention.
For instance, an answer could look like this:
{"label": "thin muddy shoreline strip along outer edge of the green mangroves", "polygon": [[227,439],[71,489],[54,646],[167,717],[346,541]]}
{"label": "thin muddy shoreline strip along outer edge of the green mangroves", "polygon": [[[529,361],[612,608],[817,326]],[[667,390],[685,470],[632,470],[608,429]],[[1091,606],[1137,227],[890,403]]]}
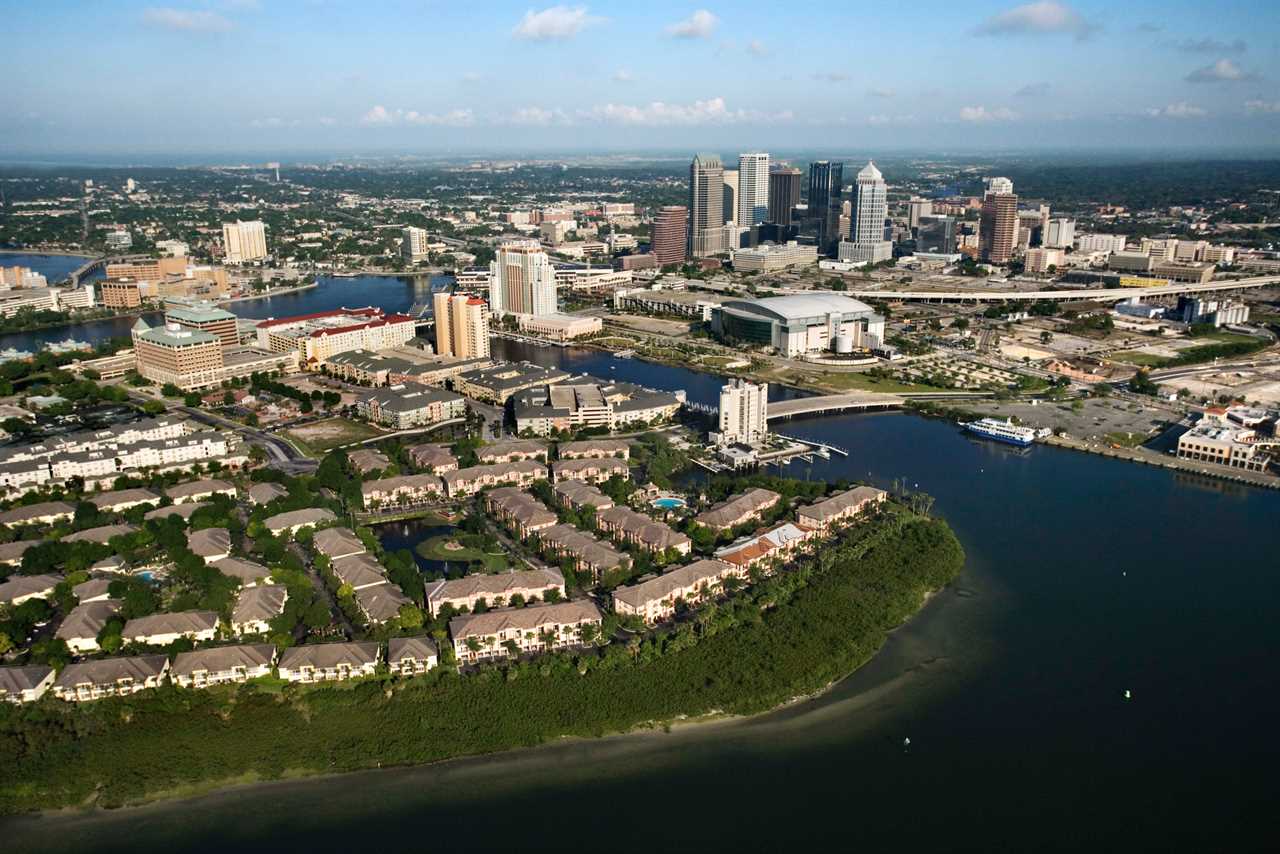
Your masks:
{"label": "thin muddy shoreline strip along outer edge of the green mangroves", "polygon": [[[238,775],[236,777],[228,777],[219,781],[189,784],[170,790],[161,790],[154,795],[145,796],[142,800],[138,800],[137,803],[123,804],[119,807],[99,807],[93,803],[86,803],[74,807],[59,807],[56,809],[38,809],[27,813],[13,813],[9,816],[0,816],[0,827],[3,827],[5,822],[20,821],[20,819],[59,821],[59,819],[78,818],[78,819],[91,821],[95,818],[106,818],[113,816],[134,816],[134,814],[142,814],[147,810],[157,810],[163,808],[178,807],[180,804],[191,804],[192,802],[200,800],[202,798],[215,798],[220,795],[234,795],[234,794],[243,795],[255,791],[266,793],[273,789],[279,789],[287,785],[330,782],[335,780],[356,777],[360,775],[375,775],[384,771],[426,771],[429,768],[439,768],[443,766],[462,764],[470,762],[484,762],[500,758],[517,759],[524,757],[532,757],[536,755],[539,752],[545,752],[564,745],[605,744],[605,743],[620,743],[628,740],[643,743],[655,739],[658,736],[668,736],[673,734],[696,734],[696,732],[710,734],[717,729],[722,727],[758,722],[780,712],[795,709],[797,707],[804,705],[805,703],[822,700],[829,697],[836,688],[838,688],[845,681],[852,679],[855,675],[861,672],[868,665],[874,662],[881,656],[888,640],[906,626],[914,624],[928,609],[928,606],[937,599],[938,594],[941,594],[943,590],[954,585],[959,580],[959,577],[960,576],[952,579],[952,581],[948,583],[946,588],[927,590],[920,599],[919,607],[916,607],[916,609],[913,611],[908,617],[905,617],[897,626],[886,632],[883,640],[876,648],[876,650],[870,656],[868,656],[864,661],[859,662],[847,673],[840,676],[838,679],[831,680],[820,689],[808,691],[805,694],[800,694],[796,697],[791,697],[778,703],[777,705],[773,705],[768,709],[763,709],[760,712],[754,712],[750,714],[735,714],[730,712],[723,712],[721,709],[716,709],[696,716],[680,714],[663,721],[646,721],[643,723],[636,723],[635,726],[627,730],[605,732],[599,736],[562,735],[548,739],[541,744],[534,744],[527,746],[513,746],[500,750],[492,750],[486,753],[460,754],[456,757],[434,759],[431,762],[387,764],[387,766],[379,763],[371,767],[353,768],[349,771],[337,771],[337,772],[330,772],[330,771],[312,772],[301,768],[287,768],[279,777],[275,778],[261,778],[257,777],[253,772],[248,772],[246,775]],[[858,697],[861,697],[864,694],[870,694],[873,690],[877,690],[877,688],[869,688],[865,691],[859,691],[858,694],[854,694],[851,698],[845,698],[845,699],[856,699]],[[252,778],[246,778],[246,777],[252,777]]]}

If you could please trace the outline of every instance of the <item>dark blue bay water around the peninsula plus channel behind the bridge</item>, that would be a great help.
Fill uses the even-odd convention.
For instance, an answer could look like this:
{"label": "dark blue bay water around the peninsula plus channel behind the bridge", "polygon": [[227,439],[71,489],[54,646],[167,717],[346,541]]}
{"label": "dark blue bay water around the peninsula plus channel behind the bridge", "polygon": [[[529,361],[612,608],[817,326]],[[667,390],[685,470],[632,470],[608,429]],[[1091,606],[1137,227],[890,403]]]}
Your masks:
{"label": "dark blue bay water around the peninsula plus channel behind the bridge", "polygon": [[[495,356],[686,388],[694,401],[719,385],[607,353],[494,344]],[[672,732],[10,819],[6,839],[28,851],[420,840],[536,850],[572,839],[780,850],[837,835],[876,849],[1204,850],[1221,828],[1233,848],[1266,841],[1242,834],[1266,823],[1280,748],[1280,580],[1263,543],[1228,553],[1222,531],[1266,530],[1280,495],[1009,449],[909,415],[801,419],[786,431],[850,456],[783,474],[928,492],[969,558],[954,588],[828,694]],[[637,834],[640,810],[657,823]]]}

